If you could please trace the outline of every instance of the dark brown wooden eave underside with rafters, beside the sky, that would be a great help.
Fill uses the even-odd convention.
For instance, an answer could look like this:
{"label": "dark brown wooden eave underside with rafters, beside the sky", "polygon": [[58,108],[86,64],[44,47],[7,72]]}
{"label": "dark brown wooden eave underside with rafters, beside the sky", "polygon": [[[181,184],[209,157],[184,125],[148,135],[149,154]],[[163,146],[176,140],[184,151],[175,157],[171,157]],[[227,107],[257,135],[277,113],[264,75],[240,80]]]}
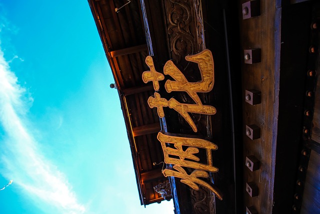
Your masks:
{"label": "dark brown wooden eave underside with rafters, beside the sky", "polygon": [[88,3],[119,94],[140,202],[144,205],[160,202],[163,198],[153,186],[166,178],[161,173],[162,165],[152,164],[163,161],[163,155],[156,143],[159,118],[146,104],[154,89],[141,79],[142,72],[148,70],[144,59],[149,53],[140,2],[131,1],[119,13],[115,8],[125,1],[88,0]]}

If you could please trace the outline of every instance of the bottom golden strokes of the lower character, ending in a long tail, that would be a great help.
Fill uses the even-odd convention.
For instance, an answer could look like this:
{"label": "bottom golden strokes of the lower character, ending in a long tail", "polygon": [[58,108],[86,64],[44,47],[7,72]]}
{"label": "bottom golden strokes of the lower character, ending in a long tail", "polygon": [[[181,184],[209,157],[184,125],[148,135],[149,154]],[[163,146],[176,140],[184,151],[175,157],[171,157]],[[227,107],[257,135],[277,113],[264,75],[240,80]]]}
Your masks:
{"label": "bottom golden strokes of the lower character, ending in a long tail", "polygon": [[190,186],[195,190],[199,189],[199,187],[196,184],[200,184],[210,189],[217,196],[217,198],[222,200],[222,196],[217,189],[213,188],[210,184],[198,178],[198,177],[204,177],[204,178],[208,177],[208,173],[206,171],[196,169],[192,171],[190,175],[188,175],[186,171],[179,165],[174,165],[173,169],[177,171],[172,170],[170,168],[165,168],[162,173],[165,177],[173,176],[173,177],[181,178],[180,181],[182,183],[185,183],[186,185]]}

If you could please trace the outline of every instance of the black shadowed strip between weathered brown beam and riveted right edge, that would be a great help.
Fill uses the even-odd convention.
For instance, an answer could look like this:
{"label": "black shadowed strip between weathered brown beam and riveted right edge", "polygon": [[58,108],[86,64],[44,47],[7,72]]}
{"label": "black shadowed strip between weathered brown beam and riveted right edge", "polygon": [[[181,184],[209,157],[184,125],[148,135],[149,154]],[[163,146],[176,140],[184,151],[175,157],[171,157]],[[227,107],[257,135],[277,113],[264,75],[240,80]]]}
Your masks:
{"label": "black shadowed strip between weathered brown beam and riveted right edge", "polygon": [[[289,5],[281,12],[279,110],[275,157],[274,213],[289,213],[298,168],[309,40],[308,5]],[[294,28],[294,30],[293,30]],[[296,41],[299,41],[297,43]],[[280,41],[279,41],[280,42]],[[288,134],[290,133],[290,134]]]}

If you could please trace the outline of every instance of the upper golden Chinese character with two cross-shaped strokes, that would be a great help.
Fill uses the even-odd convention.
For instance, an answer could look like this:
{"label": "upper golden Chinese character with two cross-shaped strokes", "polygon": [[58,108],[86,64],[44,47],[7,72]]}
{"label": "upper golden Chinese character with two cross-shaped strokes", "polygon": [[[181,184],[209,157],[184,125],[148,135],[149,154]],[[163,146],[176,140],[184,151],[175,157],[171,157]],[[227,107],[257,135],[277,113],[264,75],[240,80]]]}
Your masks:
{"label": "upper golden Chinese character with two cross-shaped strokes", "polygon": [[[213,115],[216,112],[213,106],[203,105],[199,96],[196,94],[197,92],[209,92],[213,88],[213,58],[209,50],[204,50],[198,54],[186,56],[185,60],[198,64],[201,74],[201,81],[192,83],[188,82],[182,72],[173,64],[172,61],[169,60],[164,65],[163,73],[171,76],[174,81],[167,80],[164,87],[168,93],[171,91],[186,92],[192,98],[195,104],[179,103],[174,98],[166,100],[165,98],[161,98],[160,94],[155,92],[154,97],[149,97],[148,105],[150,108],[157,108],[157,113],[160,118],[164,117],[163,107],[174,109],[186,120],[186,122],[191,126],[192,130],[197,132],[197,128],[189,113]],[[145,71],[142,73],[142,80],[144,83],[152,81],[153,87],[157,91],[159,90],[158,81],[163,80],[164,76],[155,71],[152,57],[146,57],[145,63],[150,68],[150,71]]]}

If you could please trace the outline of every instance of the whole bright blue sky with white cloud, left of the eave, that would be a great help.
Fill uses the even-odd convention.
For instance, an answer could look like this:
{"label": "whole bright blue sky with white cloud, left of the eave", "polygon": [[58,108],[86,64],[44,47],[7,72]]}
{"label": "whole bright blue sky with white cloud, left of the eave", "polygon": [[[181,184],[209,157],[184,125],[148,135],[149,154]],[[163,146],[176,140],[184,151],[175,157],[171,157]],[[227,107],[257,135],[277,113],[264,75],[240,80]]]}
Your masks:
{"label": "whole bright blue sky with white cloud, left of the eave", "polygon": [[0,213],[140,206],[110,68],[83,1],[0,1]]}

